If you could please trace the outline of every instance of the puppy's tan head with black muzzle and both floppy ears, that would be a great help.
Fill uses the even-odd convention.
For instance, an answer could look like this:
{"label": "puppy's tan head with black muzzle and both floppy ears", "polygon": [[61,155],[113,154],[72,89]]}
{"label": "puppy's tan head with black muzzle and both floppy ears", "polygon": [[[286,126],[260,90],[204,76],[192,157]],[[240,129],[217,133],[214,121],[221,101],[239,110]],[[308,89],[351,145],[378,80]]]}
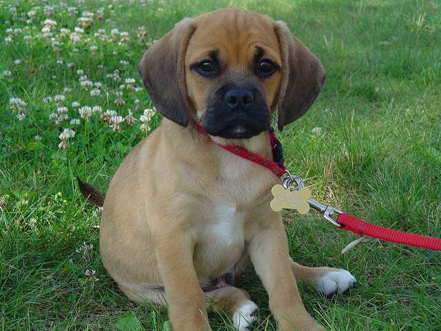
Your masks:
{"label": "puppy's tan head with black muzzle and both floppy ears", "polygon": [[305,114],[326,74],[285,23],[245,10],[183,19],[139,65],[158,112],[187,126],[198,118],[213,136],[248,139]]}

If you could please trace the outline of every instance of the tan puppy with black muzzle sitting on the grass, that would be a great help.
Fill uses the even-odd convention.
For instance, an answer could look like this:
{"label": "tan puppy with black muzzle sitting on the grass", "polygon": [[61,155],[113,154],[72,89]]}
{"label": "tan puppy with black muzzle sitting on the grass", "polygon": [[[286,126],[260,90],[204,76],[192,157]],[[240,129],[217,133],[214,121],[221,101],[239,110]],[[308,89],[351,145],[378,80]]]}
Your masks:
{"label": "tan puppy with black muzzle sitting on the grass", "polygon": [[[164,119],[110,183],[100,230],[107,272],[130,300],[166,305],[175,331],[211,330],[207,305],[248,330],[257,306],[234,278],[251,262],[280,330],[325,330],[296,281],[330,294],[355,279],[292,261],[269,207],[280,179],[216,144],[271,159],[271,115],[278,108],[282,130],[307,112],[325,80],[318,59],[285,23],[229,9],[177,23],[145,52],[139,73]],[[96,189],[81,188],[102,203]]]}

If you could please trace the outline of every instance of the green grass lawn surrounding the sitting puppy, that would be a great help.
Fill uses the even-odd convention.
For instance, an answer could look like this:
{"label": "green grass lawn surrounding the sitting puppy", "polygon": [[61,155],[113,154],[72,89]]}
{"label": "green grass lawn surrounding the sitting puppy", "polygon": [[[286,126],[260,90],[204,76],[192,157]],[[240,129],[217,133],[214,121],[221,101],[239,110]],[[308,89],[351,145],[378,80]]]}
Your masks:
{"label": "green grass lawn surrounding the sitting puppy", "polygon": [[[71,6],[77,8],[72,15]],[[0,330],[162,330],[166,313],[130,303],[105,273],[99,218],[74,180],[79,176],[105,190],[127,152],[147,133],[139,130],[140,121],[114,132],[98,114],[78,126],[69,120],[57,126],[49,121],[56,103],[43,99],[65,95],[61,103],[70,119],[80,119],[74,101],[121,116],[131,109],[139,119],[144,108],[152,108],[147,94],[124,89],[125,106],[116,106],[120,97],[114,92],[127,78],[141,86],[136,65],[146,43],[183,17],[226,7],[283,19],[328,72],[313,108],[278,133],[289,169],[307,180],[313,197],[373,223],[440,237],[439,1],[276,0],[270,6],[263,0],[118,0],[65,6],[0,0]],[[33,18],[21,21],[30,19],[31,10]],[[73,31],[85,10],[95,15],[92,26],[79,33],[80,41],[72,43],[70,34],[59,37],[61,28]],[[58,45],[34,38],[43,34],[41,22],[48,17],[57,21],[51,32]],[[145,36],[139,37],[140,26]],[[8,28],[22,31],[12,32],[7,41]],[[100,28],[107,40],[94,35]],[[119,44],[121,34],[112,41],[113,28],[129,32],[130,41]],[[25,35],[31,36],[29,43]],[[21,63],[14,63],[17,59]],[[81,88],[76,70],[102,83],[99,97]],[[107,77],[114,70],[121,81]],[[12,97],[27,103],[22,121],[10,109]],[[155,114],[148,124],[154,129],[159,121]],[[76,132],[65,150],[58,148],[63,128]],[[439,253],[370,241],[343,255],[340,250],[355,239],[352,234],[313,212],[305,217],[285,212],[284,217],[296,261],[347,268],[358,278],[355,290],[331,299],[300,286],[307,310],[322,325],[329,330],[441,330]],[[83,243],[94,245],[90,254],[76,252]],[[96,270],[99,281],[86,277],[86,270]],[[241,285],[260,306],[254,330],[276,330],[253,270]],[[127,315],[141,325],[124,329],[121,317]],[[225,314],[210,319],[213,330],[232,330]]]}

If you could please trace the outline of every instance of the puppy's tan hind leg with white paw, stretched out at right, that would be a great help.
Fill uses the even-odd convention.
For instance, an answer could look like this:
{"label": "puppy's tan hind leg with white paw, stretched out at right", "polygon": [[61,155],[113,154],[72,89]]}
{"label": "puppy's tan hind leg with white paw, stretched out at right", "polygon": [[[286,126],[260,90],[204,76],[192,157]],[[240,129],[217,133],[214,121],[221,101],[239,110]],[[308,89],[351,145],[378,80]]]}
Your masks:
{"label": "puppy's tan hind leg with white paw, stretched out at right", "polygon": [[305,283],[314,286],[318,292],[326,295],[334,292],[346,292],[357,281],[349,271],[342,269],[328,267],[311,268],[294,261],[291,263],[291,268],[297,281],[305,281]]}

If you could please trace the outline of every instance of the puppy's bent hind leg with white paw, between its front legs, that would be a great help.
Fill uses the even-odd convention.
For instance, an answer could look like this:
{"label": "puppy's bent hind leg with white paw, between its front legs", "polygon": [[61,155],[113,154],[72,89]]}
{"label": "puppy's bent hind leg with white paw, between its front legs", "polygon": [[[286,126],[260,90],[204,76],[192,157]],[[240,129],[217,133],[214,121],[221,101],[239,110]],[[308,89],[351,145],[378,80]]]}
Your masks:
{"label": "puppy's bent hind leg with white paw, between its front legs", "polygon": [[249,299],[249,294],[240,288],[225,286],[205,292],[208,308],[214,311],[226,310],[238,331],[249,330],[257,318],[258,307]]}

